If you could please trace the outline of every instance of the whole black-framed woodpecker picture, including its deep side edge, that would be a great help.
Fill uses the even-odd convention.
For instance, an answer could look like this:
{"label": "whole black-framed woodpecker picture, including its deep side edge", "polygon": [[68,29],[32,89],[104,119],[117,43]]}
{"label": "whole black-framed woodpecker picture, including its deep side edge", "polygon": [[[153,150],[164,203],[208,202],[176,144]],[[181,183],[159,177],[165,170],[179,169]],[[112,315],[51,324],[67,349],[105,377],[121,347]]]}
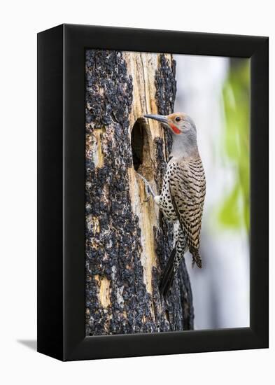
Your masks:
{"label": "whole black-framed woodpecker picture, including its deep side edge", "polygon": [[38,351],[268,346],[268,38],[38,34]]}

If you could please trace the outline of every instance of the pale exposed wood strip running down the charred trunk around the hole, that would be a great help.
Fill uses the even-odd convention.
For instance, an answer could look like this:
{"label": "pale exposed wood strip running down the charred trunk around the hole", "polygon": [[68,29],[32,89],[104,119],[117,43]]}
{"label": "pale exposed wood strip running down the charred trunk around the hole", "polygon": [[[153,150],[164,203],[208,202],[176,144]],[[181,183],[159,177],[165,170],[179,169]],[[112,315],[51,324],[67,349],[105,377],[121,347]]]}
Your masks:
{"label": "pale exposed wood strip running down the charred trunk around the hole", "polygon": [[[133,78],[133,108],[129,116],[129,137],[131,137],[132,127],[137,119],[143,118],[146,113],[158,113],[155,101],[155,71],[158,66],[159,55],[144,52],[133,55],[132,52],[124,52],[123,57],[125,57],[129,74]],[[141,172],[141,174],[146,177],[153,190],[157,191],[153,179],[153,170],[156,167],[153,140],[155,137],[164,140],[164,132],[155,120],[150,121],[150,127],[144,121],[144,127],[146,127],[149,137],[149,146],[146,153],[148,162],[151,161],[151,165],[148,167],[152,169],[152,172]],[[143,165],[143,167],[146,167],[146,165]],[[153,203],[152,197],[148,202],[144,202],[146,200],[144,183],[134,172],[134,166],[129,169],[129,186],[133,212],[139,216],[141,226],[141,263],[144,268],[144,282],[148,293],[152,293],[152,267],[157,266],[153,228],[158,226],[158,207]]]}

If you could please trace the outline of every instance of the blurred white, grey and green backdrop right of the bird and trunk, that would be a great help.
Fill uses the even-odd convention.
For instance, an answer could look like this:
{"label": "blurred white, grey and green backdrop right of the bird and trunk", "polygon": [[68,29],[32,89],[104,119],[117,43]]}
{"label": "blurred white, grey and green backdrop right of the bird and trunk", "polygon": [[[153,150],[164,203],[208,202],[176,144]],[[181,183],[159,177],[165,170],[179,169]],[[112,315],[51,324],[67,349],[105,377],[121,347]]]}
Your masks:
{"label": "blurred white, grey and green backdrop right of the bird and trunk", "polygon": [[174,55],[175,112],[197,126],[206,174],[203,269],[186,255],[195,329],[249,326],[249,59]]}

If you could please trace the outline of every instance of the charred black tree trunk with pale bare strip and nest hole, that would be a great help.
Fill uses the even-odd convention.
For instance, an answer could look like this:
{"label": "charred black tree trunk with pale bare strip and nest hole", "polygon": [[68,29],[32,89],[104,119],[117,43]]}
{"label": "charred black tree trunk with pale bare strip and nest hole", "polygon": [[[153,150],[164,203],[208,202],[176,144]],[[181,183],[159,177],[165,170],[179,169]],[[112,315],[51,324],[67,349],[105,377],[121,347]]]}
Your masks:
{"label": "charred black tree trunk with pale bare strip and nest hole", "polygon": [[173,225],[152,197],[144,202],[136,174],[160,193],[171,137],[142,116],[173,111],[175,70],[171,55],[86,52],[87,335],[193,328],[184,261],[167,300],[160,296]]}

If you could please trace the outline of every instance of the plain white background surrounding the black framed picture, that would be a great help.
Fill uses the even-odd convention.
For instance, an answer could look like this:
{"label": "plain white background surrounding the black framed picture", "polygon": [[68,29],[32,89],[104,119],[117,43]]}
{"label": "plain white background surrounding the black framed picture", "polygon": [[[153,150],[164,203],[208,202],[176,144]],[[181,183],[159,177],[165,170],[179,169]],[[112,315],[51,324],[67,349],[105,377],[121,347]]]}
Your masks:
{"label": "plain white background surrounding the black framed picture", "polygon": [[[20,342],[36,338],[36,33],[66,22],[265,35],[270,37],[272,68],[272,3],[270,0],[24,0],[1,3],[1,384],[274,384],[272,327],[271,348],[265,350],[73,363],[61,363],[43,356],[26,342]],[[270,85],[270,106],[274,106],[273,73]],[[274,114],[271,114],[270,127],[273,126]],[[270,144],[274,146],[272,131]],[[274,151],[271,162],[273,166]],[[271,173],[271,196],[274,195],[273,185]],[[271,216],[274,216],[272,202],[271,209]],[[274,220],[271,222],[272,235]],[[273,251],[274,236],[270,243]],[[272,253],[270,259],[273,299]],[[272,326],[274,305],[270,304]],[[34,346],[34,342],[29,344]]]}

